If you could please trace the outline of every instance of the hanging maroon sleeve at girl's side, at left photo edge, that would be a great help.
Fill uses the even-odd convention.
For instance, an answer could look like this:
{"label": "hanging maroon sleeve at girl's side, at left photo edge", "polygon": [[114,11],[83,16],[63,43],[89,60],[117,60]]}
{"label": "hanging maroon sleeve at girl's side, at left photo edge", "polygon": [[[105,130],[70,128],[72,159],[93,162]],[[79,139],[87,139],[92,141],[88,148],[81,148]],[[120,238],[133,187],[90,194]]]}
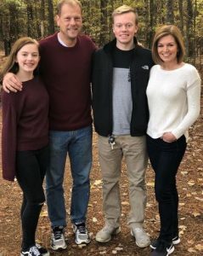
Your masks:
{"label": "hanging maroon sleeve at girl's side, at left photo edge", "polygon": [[3,92],[2,166],[3,178],[14,181],[16,159],[17,109],[14,93]]}

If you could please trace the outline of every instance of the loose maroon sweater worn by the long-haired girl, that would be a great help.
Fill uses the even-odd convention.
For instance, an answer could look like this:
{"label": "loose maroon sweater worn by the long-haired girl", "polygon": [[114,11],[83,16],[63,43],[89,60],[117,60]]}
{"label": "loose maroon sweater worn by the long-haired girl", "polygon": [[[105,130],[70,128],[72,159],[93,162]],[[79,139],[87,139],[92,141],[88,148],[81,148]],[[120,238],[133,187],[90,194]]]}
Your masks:
{"label": "loose maroon sweater worn by the long-haired girl", "polygon": [[48,144],[48,92],[39,78],[23,83],[23,90],[3,91],[3,178],[15,176],[16,151],[36,150]]}

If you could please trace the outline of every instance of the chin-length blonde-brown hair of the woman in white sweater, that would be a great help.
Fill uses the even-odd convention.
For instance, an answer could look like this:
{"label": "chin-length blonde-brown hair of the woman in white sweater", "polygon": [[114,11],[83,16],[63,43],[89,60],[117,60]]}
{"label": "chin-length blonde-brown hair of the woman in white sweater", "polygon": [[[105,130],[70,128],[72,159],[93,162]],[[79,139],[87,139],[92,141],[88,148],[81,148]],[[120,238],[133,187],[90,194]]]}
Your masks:
{"label": "chin-length blonde-brown hair of the woman in white sweater", "polygon": [[178,53],[177,53],[178,63],[181,63],[183,61],[183,57],[185,55],[185,49],[184,49],[184,43],[183,43],[183,36],[180,30],[178,29],[178,26],[163,25],[159,27],[158,30],[155,32],[155,38],[152,44],[152,57],[156,64],[163,63],[163,61],[161,60],[158,54],[158,49],[157,49],[159,40],[168,35],[171,35],[175,39],[176,44],[178,44]]}

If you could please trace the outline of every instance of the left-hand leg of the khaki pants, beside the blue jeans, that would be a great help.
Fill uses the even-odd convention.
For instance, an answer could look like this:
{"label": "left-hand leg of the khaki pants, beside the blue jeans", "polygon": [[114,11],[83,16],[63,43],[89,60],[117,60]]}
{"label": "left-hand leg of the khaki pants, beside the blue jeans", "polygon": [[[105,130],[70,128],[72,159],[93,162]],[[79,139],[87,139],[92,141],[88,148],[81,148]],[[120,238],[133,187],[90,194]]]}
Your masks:
{"label": "left-hand leg of the khaki pants, beside the blue jeans", "polygon": [[118,142],[111,149],[108,137],[99,136],[99,163],[103,179],[103,211],[106,224],[119,226],[121,218],[121,197],[119,179],[121,176],[122,150]]}

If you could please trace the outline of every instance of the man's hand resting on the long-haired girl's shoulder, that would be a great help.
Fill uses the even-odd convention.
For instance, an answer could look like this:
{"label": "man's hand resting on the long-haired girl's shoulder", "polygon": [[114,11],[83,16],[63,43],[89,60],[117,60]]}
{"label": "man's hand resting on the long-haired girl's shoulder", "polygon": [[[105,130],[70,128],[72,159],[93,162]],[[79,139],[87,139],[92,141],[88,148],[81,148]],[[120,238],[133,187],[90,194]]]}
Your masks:
{"label": "man's hand resting on the long-haired girl's shoulder", "polygon": [[7,73],[3,78],[3,90],[6,92],[22,90],[22,83],[14,73]]}

